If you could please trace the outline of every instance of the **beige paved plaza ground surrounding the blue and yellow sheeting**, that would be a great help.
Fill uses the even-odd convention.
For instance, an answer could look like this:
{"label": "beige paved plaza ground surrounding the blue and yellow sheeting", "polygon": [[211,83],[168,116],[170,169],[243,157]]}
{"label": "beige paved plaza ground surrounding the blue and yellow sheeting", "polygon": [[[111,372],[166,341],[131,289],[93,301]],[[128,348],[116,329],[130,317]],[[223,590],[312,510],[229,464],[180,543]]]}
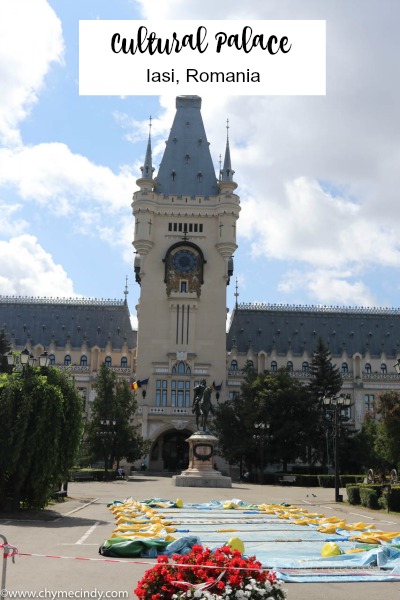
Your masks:
{"label": "beige paved plaza ground surrounding the blue and yellow sheeting", "polygon": [[[133,598],[133,589],[150,559],[107,561],[98,554],[102,542],[112,534],[115,522],[107,504],[133,497],[136,500],[181,498],[184,503],[210,500],[242,500],[253,504],[285,502],[327,517],[339,516],[349,523],[374,523],[382,531],[400,531],[400,515],[370,511],[334,502],[334,490],[291,486],[258,486],[233,483],[232,488],[175,487],[168,477],[137,473],[129,481],[69,484],[70,498],[51,510],[16,517],[1,515],[0,533],[15,545],[20,556],[7,561],[6,589],[10,591],[50,590],[120,592]],[[341,490],[346,498],[345,490]],[[56,558],[57,557],[57,558]],[[82,560],[85,559],[85,560]],[[400,583],[287,583],[288,600],[380,599],[398,600]],[[49,592],[50,593],[50,592]],[[123,595],[128,593],[128,596]],[[50,597],[50,596],[47,596]],[[83,596],[82,596],[83,597]],[[114,596],[116,597],[116,596]]]}

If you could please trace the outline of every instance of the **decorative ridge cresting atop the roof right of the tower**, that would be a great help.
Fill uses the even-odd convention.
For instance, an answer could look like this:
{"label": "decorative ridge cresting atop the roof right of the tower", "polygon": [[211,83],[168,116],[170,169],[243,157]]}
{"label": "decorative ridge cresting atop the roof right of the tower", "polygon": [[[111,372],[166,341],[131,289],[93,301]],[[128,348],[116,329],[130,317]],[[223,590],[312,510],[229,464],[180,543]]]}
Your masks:
{"label": "decorative ridge cresting atop the roof right of the tower", "polygon": [[318,304],[269,304],[264,302],[243,302],[238,304],[236,310],[272,310],[289,312],[318,312],[318,313],[346,313],[346,314],[377,314],[377,315],[400,315],[400,308],[362,307],[362,306],[322,306]]}

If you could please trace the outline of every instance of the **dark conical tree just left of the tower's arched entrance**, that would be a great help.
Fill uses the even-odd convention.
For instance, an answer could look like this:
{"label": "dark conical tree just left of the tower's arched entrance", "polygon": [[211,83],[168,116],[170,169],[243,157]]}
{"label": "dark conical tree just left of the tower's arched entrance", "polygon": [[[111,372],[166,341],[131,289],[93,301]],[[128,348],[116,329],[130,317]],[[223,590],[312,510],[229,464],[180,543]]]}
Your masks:
{"label": "dark conical tree just left of the tower's arched entrance", "polygon": [[102,364],[95,384],[96,398],[87,427],[86,444],[94,460],[104,461],[104,470],[119,464],[121,458],[130,462],[148,452],[149,443],[139,433],[132,420],[137,411],[135,394],[125,379]]}

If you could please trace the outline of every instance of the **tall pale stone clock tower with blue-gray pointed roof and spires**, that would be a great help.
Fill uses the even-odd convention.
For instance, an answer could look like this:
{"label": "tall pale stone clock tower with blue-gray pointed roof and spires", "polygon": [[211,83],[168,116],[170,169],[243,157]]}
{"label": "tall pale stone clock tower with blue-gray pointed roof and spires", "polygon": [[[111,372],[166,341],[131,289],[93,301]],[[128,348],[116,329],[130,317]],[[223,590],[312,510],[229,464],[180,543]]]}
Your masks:
{"label": "tall pale stone clock tower with blue-gray pointed roof and spires", "polygon": [[229,138],[217,178],[200,109],[198,96],[176,99],[156,177],[149,136],[132,203],[139,412],[153,442],[149,467],[157,470],[185,467],[195,385],[206,379],[223,395],[226,380],[226,286],[240,203]]}

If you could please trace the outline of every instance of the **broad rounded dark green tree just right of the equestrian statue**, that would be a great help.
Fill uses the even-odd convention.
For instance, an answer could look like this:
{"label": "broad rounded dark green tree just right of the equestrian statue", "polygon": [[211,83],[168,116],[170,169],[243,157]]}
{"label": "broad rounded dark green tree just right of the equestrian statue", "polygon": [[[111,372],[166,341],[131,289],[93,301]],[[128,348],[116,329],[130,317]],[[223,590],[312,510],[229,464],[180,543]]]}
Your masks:
{"label": "broad rounded dark green tree just right of the equestrian statue", "polygon": [[305,458],[319,418],[307,388],[286,369],[277,373],[248,371],[241,391],[220,404],[214,427],[221,453],[237,463],[244,458],[261,471],[269,463]]}

